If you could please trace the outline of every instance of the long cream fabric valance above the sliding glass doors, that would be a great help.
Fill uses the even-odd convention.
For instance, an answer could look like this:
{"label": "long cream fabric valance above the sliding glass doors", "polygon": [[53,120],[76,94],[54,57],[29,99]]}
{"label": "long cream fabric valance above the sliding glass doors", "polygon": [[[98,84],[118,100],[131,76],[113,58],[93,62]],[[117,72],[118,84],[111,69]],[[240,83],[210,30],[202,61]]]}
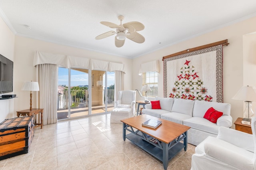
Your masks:
{"label": "long cream fabric valance above the sliding glass doors", "polygon": [[88,59],[71,55],[60,55],[36,51],[34,55],[33,65],[38,64],[56,64],[65,68],[83,68],[97,69],[104,71],[122,71],[125,73],[125,67],[122,63],[113,63],[109,61],[101,61],[96,59]]}

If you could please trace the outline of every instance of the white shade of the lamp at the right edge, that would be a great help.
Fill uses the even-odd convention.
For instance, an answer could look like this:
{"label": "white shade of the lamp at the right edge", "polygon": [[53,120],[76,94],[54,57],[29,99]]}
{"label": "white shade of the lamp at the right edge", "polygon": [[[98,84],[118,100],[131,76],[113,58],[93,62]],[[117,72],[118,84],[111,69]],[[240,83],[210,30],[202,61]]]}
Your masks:
{"label": "white shade of the lamp at the right edge", "polygon": [[232,99],[242,101],[256,101],[256,89],[252,86],[243,86]]}

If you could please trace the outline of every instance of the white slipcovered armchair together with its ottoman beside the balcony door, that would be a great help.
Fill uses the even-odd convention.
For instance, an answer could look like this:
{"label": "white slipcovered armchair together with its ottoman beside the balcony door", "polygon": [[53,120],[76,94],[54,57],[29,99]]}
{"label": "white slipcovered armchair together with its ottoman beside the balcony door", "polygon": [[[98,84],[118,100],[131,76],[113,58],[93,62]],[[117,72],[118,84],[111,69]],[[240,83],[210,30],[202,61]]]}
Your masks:
{"label": "white slipcovered armchair together with its ottoman beside the balcony door", "polygon": [[136,91],[119,91],[118,96],[115,109],[111,111],[110,123],[122,123],[120,120],[134,117],[135,114]]}

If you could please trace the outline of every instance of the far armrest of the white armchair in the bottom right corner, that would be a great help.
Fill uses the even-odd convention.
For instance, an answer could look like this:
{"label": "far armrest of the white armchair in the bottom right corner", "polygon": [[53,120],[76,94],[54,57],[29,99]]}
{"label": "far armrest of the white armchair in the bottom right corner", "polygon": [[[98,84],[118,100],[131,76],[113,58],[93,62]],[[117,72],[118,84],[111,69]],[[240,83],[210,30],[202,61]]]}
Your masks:
{"label": "far armrest of the white armchair in the bottom right corner", "polygon": [[250,152],[254,152],[254,140],[252,134],[234,130],[232,128],[220,127],[217,138]]}

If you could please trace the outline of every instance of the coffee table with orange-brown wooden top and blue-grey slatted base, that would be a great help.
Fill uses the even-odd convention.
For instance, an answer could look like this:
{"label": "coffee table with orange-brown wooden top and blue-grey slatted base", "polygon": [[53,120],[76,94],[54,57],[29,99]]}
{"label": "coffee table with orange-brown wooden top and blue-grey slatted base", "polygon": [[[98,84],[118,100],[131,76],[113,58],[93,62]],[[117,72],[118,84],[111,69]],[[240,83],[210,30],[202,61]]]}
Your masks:
{"label": "coffee table with orange-brown wooden top and blue-grey slatted base", "polygon": [[[156,129],[143,127],[142,123],[148,119],[162,121],[162,125]],[[129,139],[133,144],[162,161],[165,170],[169,160],[183,148],[185,151],[187,149],[187,130],[190,127],[150,115],[140,115],[121,121],[123,123],[123,139]],[[131,133],[126,134],[126,130]]]}

